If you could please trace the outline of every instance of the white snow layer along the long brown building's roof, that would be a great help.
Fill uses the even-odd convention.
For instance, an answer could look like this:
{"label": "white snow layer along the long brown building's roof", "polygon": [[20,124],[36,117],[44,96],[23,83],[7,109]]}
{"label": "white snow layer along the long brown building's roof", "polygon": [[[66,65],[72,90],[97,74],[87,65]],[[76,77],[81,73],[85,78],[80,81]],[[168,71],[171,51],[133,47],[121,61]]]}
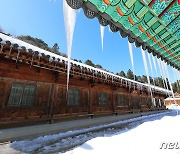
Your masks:
{"label": "white snow layer along the long brown building's roof", "polygon": [[[39,47],[36,47],[34,45],[31,45],[29,43],[21,41],[21,40],[19,40],[17,38],[10,37],[10,36],[2,34],[2,33],[0,33],[0,38],[2,39],[2,41],[0,41],[2,44],[3,43],[5,44],[6,41],[10,41],[12,45],[17,44],[19,47],[25,47],[27,50],[32,49],[33,51],[38,51],[40,54],[44,53],[45,55],[49,55],[51,59],[54,57],[55,59],[60,59],[61,61],[64,60],[66,63],[68,62],[68,58],[65,58],[63,56],[57,55],[55,53],[52,53],[52,52],[49,52],[49,51],[46,51],[46,50],[43,50],[43,49],[41,49]],[[84,67],[84,68],[93,70],[95,72],[100,72],[101,74],[103,74],[105,76],[112,76],[112,78],[117,78],[117,79],[120,79],[120,80],[124,80],[128,84],[137,84],[137,85],[140,86],[140,88],[142,88],[144,86],[144,87],[146,87],[148,89],[151,88],[151,89],[154,89],[154,90],[157,90],[157,91],[161,91],[161,92],[164,92],[164,93],[171,94],[171,91],[169,91],[167,89],[157,87],[157,86],[154,86],[154,85],[144,84],[144,83],[137,82],[137,81],[134,81],[134,80],[131,80],[131,79],[127,79],[127,78],[115,75],[113,73],[110,73],[110,72],[107,72],[107,71],[104,71],[104,70],[101,70],[101,69],[98,69],[98,68],[95,68],[95,67],[92,67],[92,66],[89,66],[89,65],[74,61],[74,60],[70,60],[70,63],[78,65],[81,68]]]}

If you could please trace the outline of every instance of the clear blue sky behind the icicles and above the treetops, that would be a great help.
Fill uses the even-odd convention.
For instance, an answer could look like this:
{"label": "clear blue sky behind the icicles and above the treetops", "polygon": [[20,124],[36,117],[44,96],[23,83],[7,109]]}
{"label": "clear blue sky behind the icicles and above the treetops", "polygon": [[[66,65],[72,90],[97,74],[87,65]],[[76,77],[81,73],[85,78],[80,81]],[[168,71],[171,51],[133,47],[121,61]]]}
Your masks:
{"label": "clear blue sky behind the icicles and above the treetops", "polygon": [[[63,18],[63,0],[1,0],[0,26],[14,35],[41,38],[49,46],[58,43],[67,53]],[[145,74],[140,48],[133,47],[135,74]],[[101,49],[100,25],[97,19],[87,19],[81,9],[77,14],[72,58],[83,62],[91,59],[114,73],[131,69],[127,38],[119,33],[104,32],[104,50]],[[150,71],[150,69],[149,69]],[[151,73],[149,73],[151,75]],[[154,71],[155,74],[155,71]],[[171,80],[172,69],[169,69]]]}

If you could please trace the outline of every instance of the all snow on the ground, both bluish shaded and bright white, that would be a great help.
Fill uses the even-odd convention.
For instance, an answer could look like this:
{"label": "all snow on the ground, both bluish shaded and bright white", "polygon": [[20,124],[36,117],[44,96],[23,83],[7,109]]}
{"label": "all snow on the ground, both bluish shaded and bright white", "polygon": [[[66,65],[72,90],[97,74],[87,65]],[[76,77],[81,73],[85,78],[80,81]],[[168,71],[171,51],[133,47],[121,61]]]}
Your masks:
{"label": "all snow on the ground, both bluish shaded and bright white", "polygon": [[[180,116],[174,111],[15,141],[0,145],[0,153],[58,153],[82,144],[67,154],[180,154],[180,149],[160,149],[163,142],[179,142],[180,148]],[[94,131],[98,128],[105,129]]]}

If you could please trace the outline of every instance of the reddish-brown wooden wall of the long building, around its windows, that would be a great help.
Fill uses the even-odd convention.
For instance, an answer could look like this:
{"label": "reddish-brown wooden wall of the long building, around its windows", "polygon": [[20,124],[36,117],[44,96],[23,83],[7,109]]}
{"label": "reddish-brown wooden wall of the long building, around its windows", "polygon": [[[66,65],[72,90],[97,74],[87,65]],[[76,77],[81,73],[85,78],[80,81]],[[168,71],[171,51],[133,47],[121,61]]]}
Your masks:
{"label": "reddish-brown wooden wall of the long building, around its windows", "polygon": [[[14,83],[30,84],[36,87],[36,97],[29,107],[8,107],[11,87]],[[128,87],[113,88],[102,83],[73,75],[69,89],[80,91],[78,106],[67,105],[66,73],[57,73],[40,69],[26,63],[0,59],[0,123],[28,121],[32,119],[52,119],[72,115],[113,114],[140,112],[152,109],[164,109],[164,106],[152,108],[151,97],[146,92],[133,91]],[[99,104],[99,93],[107,94],[107,103]],[[126,104],[118,105],[118,94],[123,94]],[[163,94],[154,94],[163,100]],[[134,99],[137,101],[135,102]],[[137,103],[137,104],[136,104]]]}

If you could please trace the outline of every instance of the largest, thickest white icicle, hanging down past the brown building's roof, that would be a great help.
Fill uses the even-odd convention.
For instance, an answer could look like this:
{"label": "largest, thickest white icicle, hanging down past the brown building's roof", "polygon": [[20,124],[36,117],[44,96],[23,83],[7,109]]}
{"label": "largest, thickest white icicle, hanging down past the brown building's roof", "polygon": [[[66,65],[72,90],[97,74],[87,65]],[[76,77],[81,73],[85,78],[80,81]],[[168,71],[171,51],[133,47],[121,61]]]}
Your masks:
{"label": "largest, thickest white icicle, hanging down past the brown building's roof", "polygon": [[69,75],[71,68],[70,60],[71,60],[72,41],[73,41],[74,27],[76,23],[76,10],[68,6],[66,0],[64,0],[63,12],[64,12],[64,23],[65,23],[66,39],[67,39],[67,53],[68,53],[68,67],[67,67],[67,91],[68,91]]}

